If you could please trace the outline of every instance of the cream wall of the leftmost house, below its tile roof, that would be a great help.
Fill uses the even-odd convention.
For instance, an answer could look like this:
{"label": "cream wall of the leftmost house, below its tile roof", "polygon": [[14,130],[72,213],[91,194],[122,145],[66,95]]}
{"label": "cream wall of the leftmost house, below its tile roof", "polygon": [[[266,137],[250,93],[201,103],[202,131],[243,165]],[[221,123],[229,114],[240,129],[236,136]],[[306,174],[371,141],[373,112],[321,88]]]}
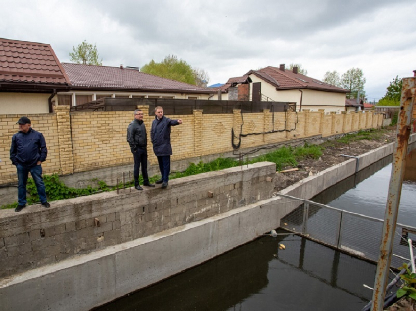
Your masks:
{"label": "cream wall of the leftmost house, below its tile roof", "polygon": [[0,114],[49,113],[50,94],[0,93]]}

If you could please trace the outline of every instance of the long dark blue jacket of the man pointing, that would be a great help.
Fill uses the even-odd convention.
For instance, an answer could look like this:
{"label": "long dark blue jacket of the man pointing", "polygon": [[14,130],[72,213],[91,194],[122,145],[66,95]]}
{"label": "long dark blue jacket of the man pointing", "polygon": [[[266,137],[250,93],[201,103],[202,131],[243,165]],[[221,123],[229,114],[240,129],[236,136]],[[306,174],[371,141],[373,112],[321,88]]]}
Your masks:
{"label": "long dark blue jacket of the man pointing", "polygon": [[178,124],[178,120],[171,120],[165,116],[158,120],[158,117],[155,116],[150,130],[150,138],[152,140],[153,151],[156,156],[172,155],[170,127]]}

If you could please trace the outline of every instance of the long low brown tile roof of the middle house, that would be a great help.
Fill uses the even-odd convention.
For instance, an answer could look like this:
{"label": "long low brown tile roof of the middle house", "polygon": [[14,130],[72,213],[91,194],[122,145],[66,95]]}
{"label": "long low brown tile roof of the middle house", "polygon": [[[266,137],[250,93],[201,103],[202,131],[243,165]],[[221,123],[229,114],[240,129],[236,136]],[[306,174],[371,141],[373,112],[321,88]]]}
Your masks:
{"label": "long low brown tile roof of the middle house", "polygon": [[214,93],[212,89],[164,79],[137,69],[62,63],[72,89],[175,91],[183,93]]}

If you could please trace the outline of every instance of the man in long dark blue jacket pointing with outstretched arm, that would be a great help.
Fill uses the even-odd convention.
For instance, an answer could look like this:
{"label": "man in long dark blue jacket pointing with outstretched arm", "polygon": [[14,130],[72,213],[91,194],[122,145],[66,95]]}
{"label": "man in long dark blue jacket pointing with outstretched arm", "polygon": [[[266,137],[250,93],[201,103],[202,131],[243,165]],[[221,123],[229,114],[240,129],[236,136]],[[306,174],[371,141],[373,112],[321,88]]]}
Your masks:
{"label": "man in long dark blue jacket pointing with outstretched arm", "polygon": [[150,138],[153,144],[153,152],[158,158],[159,169],[162,178],[157,180],[157,184],[162,183],[162,188],[167,188],[170,173],[170,156],[172,155],[172,145],[170,144],[170,127],[182,124],[182,120],[171,120],[163,116],[163,108],[155,108],[155,119],[152,122]]}

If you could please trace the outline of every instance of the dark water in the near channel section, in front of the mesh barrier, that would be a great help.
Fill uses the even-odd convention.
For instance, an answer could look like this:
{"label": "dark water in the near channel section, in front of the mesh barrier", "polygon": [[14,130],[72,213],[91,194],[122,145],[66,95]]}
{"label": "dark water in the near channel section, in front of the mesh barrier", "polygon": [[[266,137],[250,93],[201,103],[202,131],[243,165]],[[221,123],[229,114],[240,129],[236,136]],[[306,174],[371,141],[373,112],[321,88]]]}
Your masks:
{"label": "dark water in the near channel section, in front of the mesh barrier", "polygon": [[262,237],[97,310],[360,310],[375,269],[292,234]]}

